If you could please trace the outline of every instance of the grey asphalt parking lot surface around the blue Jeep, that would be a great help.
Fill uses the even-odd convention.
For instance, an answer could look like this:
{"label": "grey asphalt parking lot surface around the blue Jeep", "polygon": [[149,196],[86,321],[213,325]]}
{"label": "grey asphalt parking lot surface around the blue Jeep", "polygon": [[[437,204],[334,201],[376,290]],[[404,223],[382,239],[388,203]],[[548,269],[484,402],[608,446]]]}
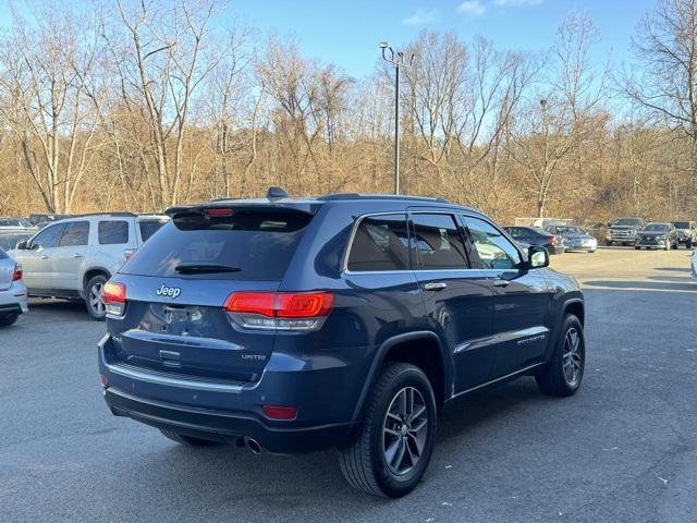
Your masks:
{"label": "grey asphalt parking lot surface around the blue Jeep", "polygon": [[531,378],[452,404],[424,483],[399,500],[332,452],[187,449],[112,417],[82,304],[32,303],[0,331],[0,521],[697,521],[697,282],[689,253],[554,257],[587,299],[584,386]]}

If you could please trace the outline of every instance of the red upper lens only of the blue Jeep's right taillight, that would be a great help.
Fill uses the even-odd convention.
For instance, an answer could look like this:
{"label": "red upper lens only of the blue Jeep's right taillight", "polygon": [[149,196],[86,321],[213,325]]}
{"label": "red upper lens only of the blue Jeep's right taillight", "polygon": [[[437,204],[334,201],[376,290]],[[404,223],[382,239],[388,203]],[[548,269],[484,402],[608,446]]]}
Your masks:
{"label": "red upper lens only of the blue Jeep's right taillight", "polygon": [[316,318],[327,316],[333,303],[331,292],[234,292],[225,302],[225,311],[277,318]]}

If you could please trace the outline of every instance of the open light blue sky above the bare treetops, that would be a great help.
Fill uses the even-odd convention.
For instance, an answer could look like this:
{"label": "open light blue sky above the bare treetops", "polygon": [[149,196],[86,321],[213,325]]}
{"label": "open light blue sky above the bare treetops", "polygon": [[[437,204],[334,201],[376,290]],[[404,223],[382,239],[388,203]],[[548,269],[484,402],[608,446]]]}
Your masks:
{"label": "open light blue sky above the bare treetops", "polygon": [[[89,9],[95,0],[63,0]],[[96,0],[98,3],[108,0]],[[269,34],[292,36],[302,52],[363,76],[374,71],[378,42],[393,47],[409,41],[420,31],[452,32],[464,40],[475,35],[500,49],[538,51],[554,39],[557,27],[571,13],[589,15],[600,41],[595,61],[603,64],[629,58],[632,34],[656,0],[232,0],[217,24],[232,16],[254,26],[264,39]],[[28,2],[32,3],[32,0]],[[13,0],[20,11],[26,0]],[[0,26],[9,22],[9,2],[0,0]]]}

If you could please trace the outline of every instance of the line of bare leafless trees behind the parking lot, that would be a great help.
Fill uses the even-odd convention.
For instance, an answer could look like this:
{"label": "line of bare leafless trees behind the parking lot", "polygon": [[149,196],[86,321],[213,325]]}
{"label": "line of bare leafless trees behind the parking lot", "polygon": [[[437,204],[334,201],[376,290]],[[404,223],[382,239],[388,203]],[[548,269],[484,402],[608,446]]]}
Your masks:
{"label": "line of bare leafless trees behind the parking lot", "polygon": [[[157,211],[269,185],[391,192],[393,69],[351,77],[218,9],[14,14],[0,37],[0,216]],[[401,85],[402,191],[503,221],[696,218],[696,13],[660,0],[628,65],[599,62],[582,16],[535,54],[420,34],[403,49],[416,58]]]}

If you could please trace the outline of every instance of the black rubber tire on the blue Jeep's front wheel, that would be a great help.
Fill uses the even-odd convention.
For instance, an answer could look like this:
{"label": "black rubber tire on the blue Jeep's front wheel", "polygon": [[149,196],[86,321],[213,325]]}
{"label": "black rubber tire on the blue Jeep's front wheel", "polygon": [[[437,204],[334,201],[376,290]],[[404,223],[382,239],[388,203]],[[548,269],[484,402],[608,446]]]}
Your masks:
{"label": "black rubber tire on the blue Jeep's front wheel", "polygon": [[[570,360],[576,361],[578,364],[577,374],[575,374],[575,379],[570,379],[571,373],[566,373],[564,370],[564,360],[566,360],[565,354],[567,354],[566,342],[567,337],[572,336],[575,332],[577,339],[577,349],[576,353],[578,354],[578,358],[576,360],[574,356],[570,356]],[[567,314],[564,317],[564,321],[562,324],[562,328],[560,331],[559,339],[557,340],[557,346],[554,348],[554,353],[552,354],[552,358],[550,360],[545,370],[535,376],[537,385],[546,394],[550,396],[572,396],[575,394],[578,388],[580,387],[580,382],[584,377],[584,369],[586,365],[586,341],[584,338],[584,328],[580,325],[580,321],[573,314]]]}

